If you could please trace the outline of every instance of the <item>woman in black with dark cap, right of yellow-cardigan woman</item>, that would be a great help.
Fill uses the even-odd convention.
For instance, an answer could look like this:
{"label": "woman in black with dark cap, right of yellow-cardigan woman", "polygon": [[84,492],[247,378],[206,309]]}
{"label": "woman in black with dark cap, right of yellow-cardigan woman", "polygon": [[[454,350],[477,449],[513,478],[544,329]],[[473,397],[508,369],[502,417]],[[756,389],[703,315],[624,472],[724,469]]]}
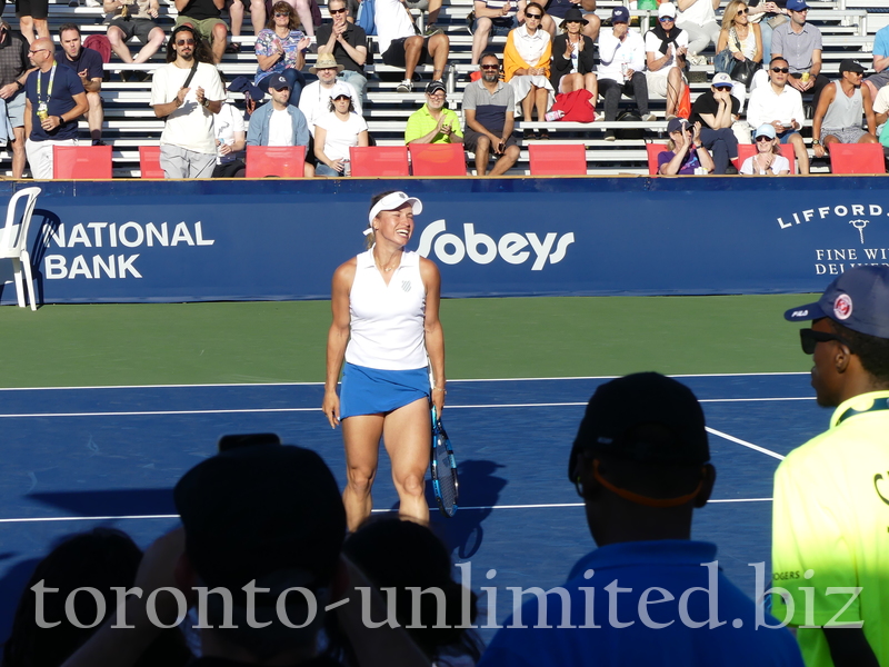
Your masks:
{"label": "woman in black with dark cap, right of yellow-cardigan woman", "polygon": [[[581,31],[588,23],[589,20],[579,9],[569,9],[565,13],[561,23],[562,32],[552,40],[549,80],[556,92],[589,90],[592,96],[590,102],[595,107],[599,98],[599,83],[596,78],[596,44]],[[642,51],[642,66],[645,67],[645,50]]]}

